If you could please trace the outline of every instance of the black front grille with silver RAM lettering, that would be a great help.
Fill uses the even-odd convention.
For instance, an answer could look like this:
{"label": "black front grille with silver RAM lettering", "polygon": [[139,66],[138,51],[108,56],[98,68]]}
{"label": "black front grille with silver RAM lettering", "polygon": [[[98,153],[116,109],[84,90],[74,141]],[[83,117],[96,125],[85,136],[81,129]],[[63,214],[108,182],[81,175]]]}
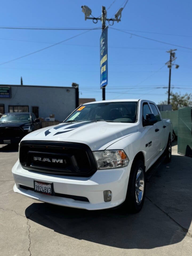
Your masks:
{"label": "black front grille with silver RAM lettering", "polygon": [[30,171],[90,177],[97,171],[91,149],[82,143],[22,141],[19,160]]}

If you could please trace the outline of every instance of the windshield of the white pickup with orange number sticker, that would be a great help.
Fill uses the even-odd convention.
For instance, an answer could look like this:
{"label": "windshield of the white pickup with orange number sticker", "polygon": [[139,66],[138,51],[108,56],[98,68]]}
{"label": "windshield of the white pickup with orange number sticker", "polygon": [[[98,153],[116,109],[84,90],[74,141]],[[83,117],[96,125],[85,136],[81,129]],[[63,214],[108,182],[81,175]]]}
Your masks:
{"label": "windshield of the white pickup with orange number sticker", "polygon": [[82,105],[65,122],[106,121],[134,123],[137,119],[137,102],[102,102]]}

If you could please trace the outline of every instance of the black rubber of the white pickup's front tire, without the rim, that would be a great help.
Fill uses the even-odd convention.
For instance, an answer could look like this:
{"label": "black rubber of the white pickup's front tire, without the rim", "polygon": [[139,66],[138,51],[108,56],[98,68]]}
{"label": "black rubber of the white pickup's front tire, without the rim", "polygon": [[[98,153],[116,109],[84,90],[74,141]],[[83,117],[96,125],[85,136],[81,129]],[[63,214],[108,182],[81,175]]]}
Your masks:
{"label": "black rubber of the white pickup's front tire, without the rim", "polygon": [[[142,169],[142,173],[143,173],[143,194],[142,194],[141,201],[137,202],[138,198],[136,199],[136,189],[137,189],[136,188],[136,178],[137,178],[137,173],[138,173],[139,169],[140,169],[140,171]],[[141,181],[141,183],[142,183],[142,181]],[[129,213],[138,213],[143,207],[143,203],[144,203],[144,199],[145,199],[145,191],[146,191],[145,166],[144,166],[143,161],[141,161],[139,159],[135,159],[135,161],[133,162],[133,165],[131,167],[126,199],[125,199],[125,202],[123,203],[124,211],[129,212]]]}

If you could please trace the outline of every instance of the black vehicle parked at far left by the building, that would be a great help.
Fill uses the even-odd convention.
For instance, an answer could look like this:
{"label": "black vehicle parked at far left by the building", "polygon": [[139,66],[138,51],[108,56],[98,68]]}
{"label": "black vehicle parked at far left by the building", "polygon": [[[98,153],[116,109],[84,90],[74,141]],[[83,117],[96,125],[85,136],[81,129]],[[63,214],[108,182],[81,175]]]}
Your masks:
{"label": "black vehicle parked at far left by the building", "polygon": [[42,128],[33,113],[14,112],[0,118],[0,144],[18,144],[31,131]]}

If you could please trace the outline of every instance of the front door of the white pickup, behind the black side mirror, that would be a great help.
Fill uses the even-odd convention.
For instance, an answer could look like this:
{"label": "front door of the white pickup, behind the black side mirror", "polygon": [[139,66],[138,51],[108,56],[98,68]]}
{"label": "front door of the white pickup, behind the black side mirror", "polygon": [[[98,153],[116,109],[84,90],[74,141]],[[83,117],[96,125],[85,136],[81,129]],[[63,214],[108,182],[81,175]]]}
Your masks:
{"label": "front door of the white pickup, behind the black side mirror", "polygon": [[[147,102],[143,103],[143,120],[146,119],[146,114],[151,114],[150,107]],[[158,154],[159,137],[155,132],[154,125],[143,126],[143,138],[145,141],[146,162],[150,163]]]}

